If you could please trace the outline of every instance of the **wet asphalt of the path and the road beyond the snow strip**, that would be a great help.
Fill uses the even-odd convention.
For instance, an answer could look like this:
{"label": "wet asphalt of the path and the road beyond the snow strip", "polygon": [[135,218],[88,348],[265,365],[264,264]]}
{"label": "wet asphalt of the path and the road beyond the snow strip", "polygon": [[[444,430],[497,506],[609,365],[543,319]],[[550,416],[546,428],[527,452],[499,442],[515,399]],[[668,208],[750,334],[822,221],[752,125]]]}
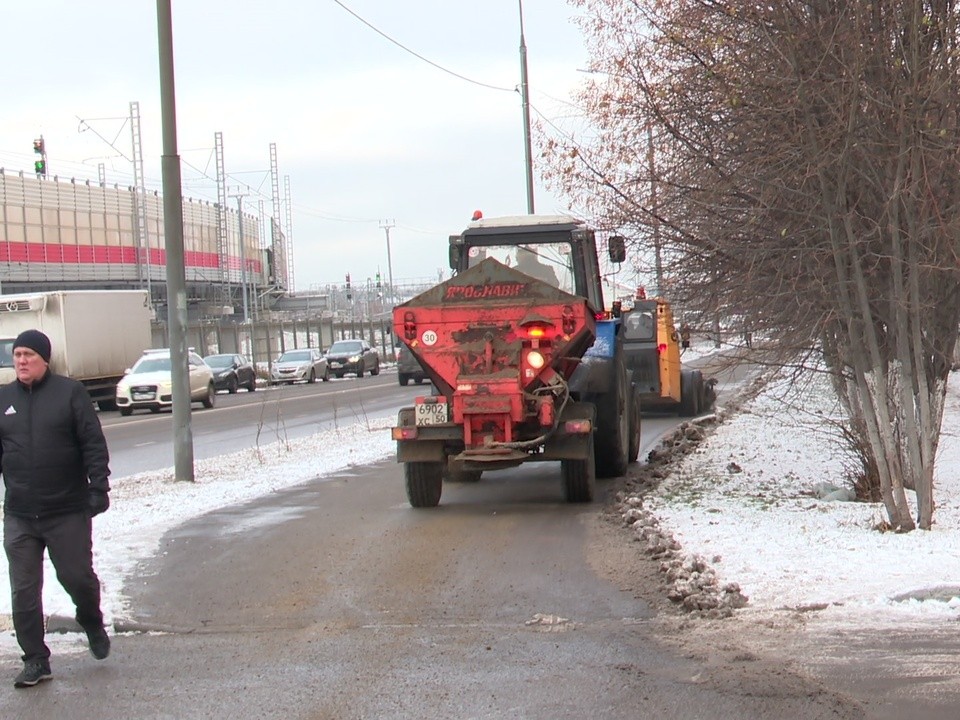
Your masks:
{"label": "wet asphalt of the path and the road beyond the snow strip", "polygon": [[[279,403],[287,427],[306,433],[418,392],[388,375],[347,383],[218,398],[218,409],[194,416],[201,447],[212,453],[224,436],[249,433],[261,405]],[[242,430],[234,416],[246,418]],[[676,422],[645,417],[642,455]],[[169,430],[169,417],[105,425],[125,457],[143,452],[131,443]],[[0,692],[0,716],[907,716],[896,713],[909,704],[880,714],[856,692],[889,695],[864,680],[863,658],[848,658],[838,680],[826,658],[817,675],[791,654],[803,645],[796,632],[778,646],[769,629],[763,647],[780,652],[765,653],[736,625],[671,615],[657,564],[610,514],[619,482],[601,481],[594,504],[570,505],[557,467],[535,464],[449,483],[440,507],[413,510],[391,459],[196,518],[129,579],[131,612],[110,659],[58,654],[53,682]],[[0,671],[12,677],[18,664],[2,658]]]}

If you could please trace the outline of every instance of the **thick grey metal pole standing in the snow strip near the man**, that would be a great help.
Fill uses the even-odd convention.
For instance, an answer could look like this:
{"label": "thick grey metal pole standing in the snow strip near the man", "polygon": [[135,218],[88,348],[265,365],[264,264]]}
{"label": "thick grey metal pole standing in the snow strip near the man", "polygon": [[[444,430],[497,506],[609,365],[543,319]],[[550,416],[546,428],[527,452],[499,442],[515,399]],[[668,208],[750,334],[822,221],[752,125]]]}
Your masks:
{"label": "thick grey metal pole standing in the snow strip near the man", "polygon": [[160,114],[163,130],[163,226],[167,250],[167,325],[173,380],[173,464],[177,480],[194,481],[193,430],[187,351],[187,279],[183,255],[183,188],[177,154],[177,108],[173,73],[171,0],[157,0],[160,50]]}

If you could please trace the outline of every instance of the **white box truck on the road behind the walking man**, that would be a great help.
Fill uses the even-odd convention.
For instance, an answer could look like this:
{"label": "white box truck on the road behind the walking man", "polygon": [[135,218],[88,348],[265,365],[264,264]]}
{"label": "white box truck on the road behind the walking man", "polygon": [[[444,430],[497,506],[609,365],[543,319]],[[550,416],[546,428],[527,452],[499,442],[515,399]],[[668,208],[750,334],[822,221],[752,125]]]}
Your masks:
{"label": "white box truck on the road behind the walking man", "polygon": [[50,338],[50,368],[82,382],[101,410],[116,408],[117,382],[152,343],[146,290],[55,290],[0,295],[0,385],[13,382],[13,341]]}

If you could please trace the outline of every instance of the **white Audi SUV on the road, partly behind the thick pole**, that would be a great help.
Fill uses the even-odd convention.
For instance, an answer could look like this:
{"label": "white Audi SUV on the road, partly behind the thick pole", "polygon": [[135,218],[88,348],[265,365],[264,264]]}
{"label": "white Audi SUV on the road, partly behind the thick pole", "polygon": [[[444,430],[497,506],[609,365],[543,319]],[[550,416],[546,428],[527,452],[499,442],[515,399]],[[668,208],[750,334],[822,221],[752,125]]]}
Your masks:
{"label": "white Audi SUV on the road, partly behind the thick pole", "polygon": [[[190,350],[187,353],[190,373],[190,402],[212,408],[217,391],[213,370],[203,358]],[[173,406],[173,378],[170,372],[170,349],[145,350],[140,359],[117,383],[117,407],[121,415],[138,408],[160,412]]]}

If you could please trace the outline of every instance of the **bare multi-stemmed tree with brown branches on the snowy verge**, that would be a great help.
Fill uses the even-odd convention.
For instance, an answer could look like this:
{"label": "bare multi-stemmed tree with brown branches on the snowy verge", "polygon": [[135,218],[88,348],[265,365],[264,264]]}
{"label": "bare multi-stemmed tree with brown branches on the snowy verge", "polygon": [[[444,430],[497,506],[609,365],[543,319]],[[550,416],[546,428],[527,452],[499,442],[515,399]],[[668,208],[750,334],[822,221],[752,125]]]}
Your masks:
{"label": "bare multi-stemmed tree with brown branches on the snowy verge", "polygon": [[548,180],[641,247],[656,231],[701,323],[825,368],[890,524],[916,526],[912,489],[929,528],[960,326],[953,0],[572,2],[591,126],[542,132]]}

